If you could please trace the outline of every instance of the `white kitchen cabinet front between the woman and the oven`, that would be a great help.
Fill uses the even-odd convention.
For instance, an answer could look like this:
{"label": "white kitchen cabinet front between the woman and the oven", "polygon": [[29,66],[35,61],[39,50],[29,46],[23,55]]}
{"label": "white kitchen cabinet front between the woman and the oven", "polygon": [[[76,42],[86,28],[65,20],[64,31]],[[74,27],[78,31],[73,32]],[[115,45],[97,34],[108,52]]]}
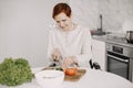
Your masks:
{"label": "white kitchen cabinet front between the woman and the oven", "polygon": [[105,42],[92,38],[93,62],[96,62],[102,70],[106,69],[105,65]]}

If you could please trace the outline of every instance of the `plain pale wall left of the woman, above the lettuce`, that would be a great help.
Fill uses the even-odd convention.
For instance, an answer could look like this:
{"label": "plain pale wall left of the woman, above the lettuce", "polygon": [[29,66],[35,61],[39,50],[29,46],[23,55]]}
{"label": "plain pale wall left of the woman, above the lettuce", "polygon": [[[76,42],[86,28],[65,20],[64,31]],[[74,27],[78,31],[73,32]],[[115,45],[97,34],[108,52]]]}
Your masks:
{"label": "plain pale wall left of the woman, above the lettuce", "polygon": [[52,8],[65,0],[0,0],[0,63],[24,57],[32,67],[47,65]]}

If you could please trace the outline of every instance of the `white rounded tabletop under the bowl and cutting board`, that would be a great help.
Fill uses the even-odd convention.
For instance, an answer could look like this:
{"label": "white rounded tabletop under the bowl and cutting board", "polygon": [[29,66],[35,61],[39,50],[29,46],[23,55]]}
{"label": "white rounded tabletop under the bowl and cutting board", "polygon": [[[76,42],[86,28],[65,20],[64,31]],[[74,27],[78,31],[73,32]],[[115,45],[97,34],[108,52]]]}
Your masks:
{"label": "white rounded tabletop under the bowl and cutting board", "polygon": [[[41,68],[33,68],[33,73],[40,72]],[[17,87],[1,86],[0,88],[41,88],[33,79],[31,82],[27,82]],[[64,81],[61,88],[133,88],[133,84],[125,78],[117,75],[88,69],[85,75],[76,82]]]}

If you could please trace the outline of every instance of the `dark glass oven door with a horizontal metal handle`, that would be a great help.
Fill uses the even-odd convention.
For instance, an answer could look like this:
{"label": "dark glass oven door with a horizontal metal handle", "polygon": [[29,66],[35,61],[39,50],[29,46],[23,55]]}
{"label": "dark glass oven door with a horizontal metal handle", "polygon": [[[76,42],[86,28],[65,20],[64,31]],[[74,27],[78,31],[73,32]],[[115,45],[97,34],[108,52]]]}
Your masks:
{"label": "dark glass oven door with a horizontal metal handle", "polygon": [[129,79],[129,57],[108,52],[108,72]]}

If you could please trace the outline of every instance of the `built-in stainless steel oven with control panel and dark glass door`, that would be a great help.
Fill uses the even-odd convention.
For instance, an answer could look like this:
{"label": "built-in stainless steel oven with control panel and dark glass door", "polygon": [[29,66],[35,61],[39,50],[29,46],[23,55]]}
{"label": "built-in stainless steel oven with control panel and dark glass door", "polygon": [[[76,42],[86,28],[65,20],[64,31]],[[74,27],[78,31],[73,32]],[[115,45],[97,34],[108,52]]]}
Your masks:
{"label": "built-in stainless steel oven with control panel and dark glass door", "polygon": [[133,48],[106,43],[106,70],[133,81]]}

